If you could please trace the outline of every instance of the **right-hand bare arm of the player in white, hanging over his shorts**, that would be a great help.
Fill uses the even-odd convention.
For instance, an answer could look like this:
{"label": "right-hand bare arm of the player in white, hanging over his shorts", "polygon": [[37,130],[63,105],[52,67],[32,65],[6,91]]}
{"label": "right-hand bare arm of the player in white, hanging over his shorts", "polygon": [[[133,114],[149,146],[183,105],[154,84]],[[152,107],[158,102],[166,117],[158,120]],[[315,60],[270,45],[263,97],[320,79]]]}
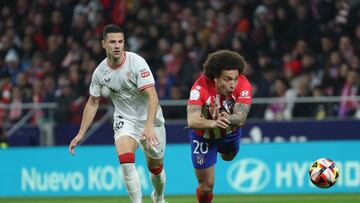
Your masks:
{"label": "right-hand bare arm of the player in white, hanging over his shorts", "polygon": [[145,94],[148,96],[148,114],[142,137],[146,139],[146,147],[151,147],[159,144],[158,138],[155,134],[154,122],[159,105],[159,98],[156,93],[155,87],[148,87],[144,89]]}

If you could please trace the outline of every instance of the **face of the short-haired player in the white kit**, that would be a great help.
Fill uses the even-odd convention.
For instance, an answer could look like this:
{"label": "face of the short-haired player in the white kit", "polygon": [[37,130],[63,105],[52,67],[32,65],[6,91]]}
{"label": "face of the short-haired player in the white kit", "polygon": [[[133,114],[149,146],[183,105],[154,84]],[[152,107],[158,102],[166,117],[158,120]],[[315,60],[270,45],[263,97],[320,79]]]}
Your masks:
{"label": "face of the short-haired player in the white kit", "polygon": [[110,58],[120,59],[124,50],[124,34],[108,33],[106,39],[102,41],[102,46]]}

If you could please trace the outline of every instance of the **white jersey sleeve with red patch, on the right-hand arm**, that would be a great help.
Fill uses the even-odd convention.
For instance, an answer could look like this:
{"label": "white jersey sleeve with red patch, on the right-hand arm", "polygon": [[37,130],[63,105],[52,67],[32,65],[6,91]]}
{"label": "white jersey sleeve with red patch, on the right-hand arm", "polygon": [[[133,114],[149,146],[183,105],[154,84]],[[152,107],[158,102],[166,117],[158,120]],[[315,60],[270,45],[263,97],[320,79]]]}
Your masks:
{"label": "white jersey sleeve with red patch, on the right-hand arm", "polygon": [[137,69],[135,70],[135,75],[137,88],[142,91],[148,87],[155,86],[154,76],[145,59],[139,57],[136,65]]}

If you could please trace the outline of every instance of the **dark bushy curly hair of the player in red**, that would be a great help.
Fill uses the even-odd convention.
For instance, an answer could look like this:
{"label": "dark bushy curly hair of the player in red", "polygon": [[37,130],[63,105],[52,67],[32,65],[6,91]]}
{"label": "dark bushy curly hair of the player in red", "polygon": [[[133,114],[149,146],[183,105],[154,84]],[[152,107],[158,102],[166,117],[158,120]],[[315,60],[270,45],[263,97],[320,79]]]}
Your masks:
{"label": "dark bushy curly hair of the player in red", "polygon": [[238,70],[239,74],[245,67],[244,58],[234,51],[219,50],[209,54],[204,63],[204,74],[213,80],[220,77],[223,70]]}

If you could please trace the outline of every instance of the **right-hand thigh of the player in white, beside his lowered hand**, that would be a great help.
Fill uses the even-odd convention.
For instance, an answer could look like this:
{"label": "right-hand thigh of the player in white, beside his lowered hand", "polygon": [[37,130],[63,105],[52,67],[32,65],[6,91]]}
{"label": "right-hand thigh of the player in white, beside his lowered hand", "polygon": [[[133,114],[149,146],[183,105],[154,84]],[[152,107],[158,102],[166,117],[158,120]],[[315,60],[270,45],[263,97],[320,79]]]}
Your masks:
{"label": "right-hand thigh of the player in white, beside his lowered hand", "polygon": [[141,149],[145,152],[146,161],[150,167],[156,167],[157,165],[162,164],[163,156],[165,153],[165,147],[166,147],[165,126],[164,125],[155,126],[154,129],[159,144],[154,145],[149,149],[147,149],[143,145],[140,145]]}

